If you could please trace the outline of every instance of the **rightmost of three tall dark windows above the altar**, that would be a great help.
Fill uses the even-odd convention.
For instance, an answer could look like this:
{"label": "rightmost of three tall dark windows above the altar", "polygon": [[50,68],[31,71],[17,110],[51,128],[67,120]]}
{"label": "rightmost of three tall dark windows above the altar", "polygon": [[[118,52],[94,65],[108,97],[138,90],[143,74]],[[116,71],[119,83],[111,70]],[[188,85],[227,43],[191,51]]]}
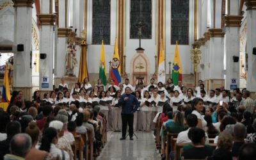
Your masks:
{"label": "rightmost of three tall dark windows above the altar", "polygon": [[189,45],[189,0],[172,0],[171,44]]}

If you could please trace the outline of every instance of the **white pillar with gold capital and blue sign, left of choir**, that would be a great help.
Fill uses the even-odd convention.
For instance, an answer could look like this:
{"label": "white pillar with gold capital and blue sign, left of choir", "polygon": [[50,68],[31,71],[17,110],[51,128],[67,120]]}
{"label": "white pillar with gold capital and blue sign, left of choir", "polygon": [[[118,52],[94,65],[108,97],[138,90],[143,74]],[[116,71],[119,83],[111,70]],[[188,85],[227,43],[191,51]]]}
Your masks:
{"label": "white pillar with gold capital and blue sign, left of choir", "polygon": [[[38,15],[40,23],[40,58],[39,90],[51,91],[53,85],[53,54],[54,54],[54,25],[57,19],[52,14],[50,1],[42,1],[42,13]],[[40,56],[41,56],[40,55]]]}

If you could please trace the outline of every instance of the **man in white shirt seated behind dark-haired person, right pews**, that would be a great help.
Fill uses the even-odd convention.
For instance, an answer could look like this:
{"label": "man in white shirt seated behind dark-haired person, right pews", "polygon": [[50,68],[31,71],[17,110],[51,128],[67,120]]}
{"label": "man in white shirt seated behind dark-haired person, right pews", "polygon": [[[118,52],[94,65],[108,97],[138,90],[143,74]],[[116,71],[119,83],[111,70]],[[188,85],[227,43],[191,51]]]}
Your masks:
{"label": "man in white shirt seated behind dark-haired person, right pews", "polygon": [[[189,114],[186,117],[186,122],[188,124],[189,129],[191,129],[191,127],[196,127],[198,120],[197,120],[197,116],[194,114]],[[188,138],[188,131],[189,129],[187,129],[186,131],[182,131],[178,134],[177,137],[177,142],[176,143],[191,143],[191,140]],[[205,143],[209,143],[209,138],[207,133],[205,132]]]}

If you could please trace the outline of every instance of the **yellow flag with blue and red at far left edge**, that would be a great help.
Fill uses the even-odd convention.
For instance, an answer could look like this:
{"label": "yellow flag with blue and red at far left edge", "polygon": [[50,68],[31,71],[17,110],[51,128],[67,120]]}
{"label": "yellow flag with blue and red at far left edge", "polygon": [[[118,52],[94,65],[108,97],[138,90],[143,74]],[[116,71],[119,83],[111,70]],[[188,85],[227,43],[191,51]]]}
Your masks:
{"label": "yellow flag with blue and red at far left edge", "polygon": [[2,102],[10,103],[11,94],[10,94],[10,88],[9,88],[9,79],[8,79],[7,68],[8,68],[8,65],[6,63],[6,67],[5,67],[5,71],[4,71],[4,86],[3,86],[3,92],[2,92]]}

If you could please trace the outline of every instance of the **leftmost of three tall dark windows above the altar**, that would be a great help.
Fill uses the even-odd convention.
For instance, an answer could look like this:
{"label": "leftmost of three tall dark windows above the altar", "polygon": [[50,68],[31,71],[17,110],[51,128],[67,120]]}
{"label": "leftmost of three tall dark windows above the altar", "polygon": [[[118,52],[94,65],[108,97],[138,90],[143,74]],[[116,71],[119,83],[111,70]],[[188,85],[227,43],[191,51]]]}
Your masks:
{"label": "leftmost of three tall dark windows above the altar", "polygon": [[93,0],[92,44],[110,44],[110,0]]}

